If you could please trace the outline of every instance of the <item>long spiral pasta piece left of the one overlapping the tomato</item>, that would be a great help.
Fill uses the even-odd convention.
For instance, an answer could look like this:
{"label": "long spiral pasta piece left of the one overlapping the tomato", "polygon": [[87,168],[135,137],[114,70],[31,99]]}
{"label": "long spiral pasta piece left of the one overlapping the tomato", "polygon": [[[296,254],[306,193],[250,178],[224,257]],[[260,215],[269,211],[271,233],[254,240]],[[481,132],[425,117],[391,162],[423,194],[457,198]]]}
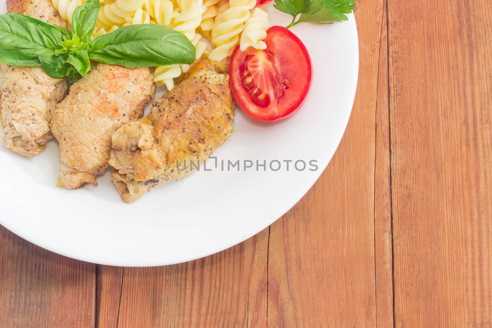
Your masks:
{"label": "long spiral pasta piece left of the one overlapping the tomato", "polygon": [[255,5],[255,0],[230,0],[229,8],[217,14],[212,27],[212,43],[216,48],[211,51],[209,59],[220,61],[232,54],[239,43],[244,23],[251,15],[249,10]]}

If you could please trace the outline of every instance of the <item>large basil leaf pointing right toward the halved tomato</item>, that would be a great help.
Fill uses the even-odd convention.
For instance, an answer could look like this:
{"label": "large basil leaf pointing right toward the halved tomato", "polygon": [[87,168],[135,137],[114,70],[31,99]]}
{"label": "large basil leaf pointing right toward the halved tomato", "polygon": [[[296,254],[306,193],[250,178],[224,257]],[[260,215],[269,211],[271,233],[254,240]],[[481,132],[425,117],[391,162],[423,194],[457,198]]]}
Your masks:
{"label": "large basil leaf pointing right toward the halved tomato", "polygon": [[123,26],[98,36],[89,59],[125,67],[189,64],[195,47],[184,34],[155,24]]}

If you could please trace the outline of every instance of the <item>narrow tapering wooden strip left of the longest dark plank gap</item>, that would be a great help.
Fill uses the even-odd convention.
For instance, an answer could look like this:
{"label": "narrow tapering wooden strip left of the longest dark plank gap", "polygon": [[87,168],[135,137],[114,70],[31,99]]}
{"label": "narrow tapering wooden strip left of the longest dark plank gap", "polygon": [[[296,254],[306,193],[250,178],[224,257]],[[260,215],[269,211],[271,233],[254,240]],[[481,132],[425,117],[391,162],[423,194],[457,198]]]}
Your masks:
{"label": "narrow tapering wooden strip left of the longest dark plank gap", "polygon": [[[385,1],[386,2],[386,1]],[[388,29],[383,4],[377,75],[376,153],[374,163],[374,267],[376,326],[393,327],[393,249],[391,240],[390,124],[388,108]]]}

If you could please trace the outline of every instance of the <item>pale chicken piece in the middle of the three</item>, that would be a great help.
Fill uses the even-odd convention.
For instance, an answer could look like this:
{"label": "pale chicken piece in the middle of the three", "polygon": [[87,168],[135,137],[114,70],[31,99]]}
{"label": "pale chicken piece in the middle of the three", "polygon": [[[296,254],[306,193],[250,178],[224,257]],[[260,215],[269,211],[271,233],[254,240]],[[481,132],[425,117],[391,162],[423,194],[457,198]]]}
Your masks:
{"label": "pale chicken piece in the middle of the three", "polygon": [[148,68],[98,64],[87,79],[72,85],[51,122],[60,143],[60,179],[65,188],[97,185],[95,177],[108,167],[113,132],[141,118],[154,94]]}

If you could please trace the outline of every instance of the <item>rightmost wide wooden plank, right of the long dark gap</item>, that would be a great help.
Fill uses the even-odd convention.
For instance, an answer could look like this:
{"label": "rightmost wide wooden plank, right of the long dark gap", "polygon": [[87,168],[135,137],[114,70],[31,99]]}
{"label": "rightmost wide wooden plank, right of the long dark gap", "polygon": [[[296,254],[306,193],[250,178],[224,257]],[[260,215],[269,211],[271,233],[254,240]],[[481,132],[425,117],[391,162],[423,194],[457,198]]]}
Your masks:
{"label": "rightmost wide wooden plank, right of the long dark gap", "polygon": [[492,9],[389,0],[396,327],[491,327]]}

